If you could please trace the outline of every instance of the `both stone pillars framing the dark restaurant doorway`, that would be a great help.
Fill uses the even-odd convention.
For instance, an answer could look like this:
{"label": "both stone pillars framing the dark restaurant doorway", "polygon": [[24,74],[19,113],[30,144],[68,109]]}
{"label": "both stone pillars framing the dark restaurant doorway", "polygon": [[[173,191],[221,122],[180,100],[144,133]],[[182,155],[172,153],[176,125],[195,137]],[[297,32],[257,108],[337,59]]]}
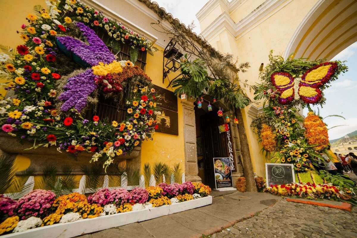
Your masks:
{"label": "both stone pillars framing the dark restaurant doorway", "polygon": [[[195,120],[195,105],[194,100],[181,101],[182,103],[182,115],[183,115],[183,138],[185,143],[185,179],[186,181],[201,182],[201,178],[198,176],[198,163],[197,163],[197,146],[196,146],[196,120]],[[238,177],[243,176],[243,167],[241,163],[241,153],[238,137],[238,128],[232,123],[234,120],[234,114],[232,111],[224,113],[224,116],[231,117],[230,128],[233,140],[233,147],[236,158],[237,172],[232,173],[233,186]]]}

